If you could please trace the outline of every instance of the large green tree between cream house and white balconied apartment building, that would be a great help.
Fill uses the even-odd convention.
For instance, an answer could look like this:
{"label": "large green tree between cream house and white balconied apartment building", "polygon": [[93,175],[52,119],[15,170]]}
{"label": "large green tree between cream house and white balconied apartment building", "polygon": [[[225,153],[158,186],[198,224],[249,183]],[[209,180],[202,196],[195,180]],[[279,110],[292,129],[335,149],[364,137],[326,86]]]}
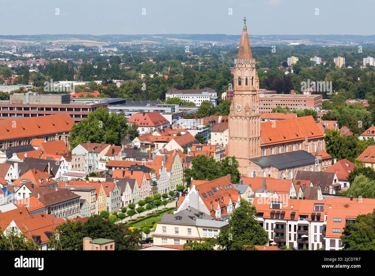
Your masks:
{"label": "large green tree between cream house and white balconied apartment building", "polygon": [[[226,250],[243,245],[264,245],[269,242],[268,232],[256,219],[257,210],[254,205],[241,199],[229,219],[229,230],[222,229],[217,237],[218,243]],[[241,247],[242,248],[242,247]]]}

